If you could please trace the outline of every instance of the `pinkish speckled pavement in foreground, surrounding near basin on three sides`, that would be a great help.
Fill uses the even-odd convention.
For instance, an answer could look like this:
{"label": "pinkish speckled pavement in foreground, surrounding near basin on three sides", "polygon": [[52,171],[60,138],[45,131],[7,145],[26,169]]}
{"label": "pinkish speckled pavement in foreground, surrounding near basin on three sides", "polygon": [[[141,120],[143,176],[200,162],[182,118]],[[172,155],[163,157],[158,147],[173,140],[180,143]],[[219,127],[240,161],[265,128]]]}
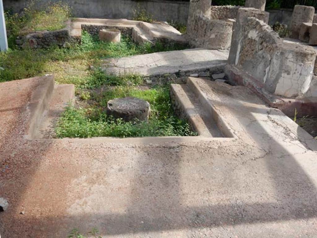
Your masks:
{"label": "pinkish speckled pavement in foreground, surrounding near basin on three sides", "polygon": [[1,237],[93,227],[122,238],[316,237],[316,141],[245,87],[192,81],[235,138],[31,140],[40,80],[1,83]]}

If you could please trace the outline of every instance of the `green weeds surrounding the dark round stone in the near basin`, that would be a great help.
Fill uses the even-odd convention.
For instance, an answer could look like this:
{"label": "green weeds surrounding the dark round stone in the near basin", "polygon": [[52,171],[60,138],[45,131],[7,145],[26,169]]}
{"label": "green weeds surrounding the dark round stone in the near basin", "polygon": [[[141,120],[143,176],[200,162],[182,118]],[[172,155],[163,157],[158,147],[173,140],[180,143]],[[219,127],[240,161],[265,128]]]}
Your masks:
{"label": "green weeds surrounding the dark round stone in the near basin", "polygon": [[[149,122],[125,122],[107,116],[107,101],[120,97],[147,100],[151,105]],[[186,121],[174,116],[169,87],[141,90],[136,87],[117,86],[99,93],[91,93],[89,99],[94,101],[93,105],[66,109],[55,130],[58,138],[197,135],[191,131]]]}

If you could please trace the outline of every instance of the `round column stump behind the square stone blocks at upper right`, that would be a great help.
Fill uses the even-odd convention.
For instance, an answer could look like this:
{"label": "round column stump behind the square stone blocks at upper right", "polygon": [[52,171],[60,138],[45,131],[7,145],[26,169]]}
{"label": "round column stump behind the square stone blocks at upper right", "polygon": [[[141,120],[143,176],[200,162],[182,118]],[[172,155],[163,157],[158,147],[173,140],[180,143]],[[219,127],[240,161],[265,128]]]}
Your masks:
{"label": "round column stump behind the square stone blocks at upper right", "polygon": [[315,15],[314,7],[296,5],[293,10],[291,22],[291,38],[298,39],[301,23],[312,23]]}

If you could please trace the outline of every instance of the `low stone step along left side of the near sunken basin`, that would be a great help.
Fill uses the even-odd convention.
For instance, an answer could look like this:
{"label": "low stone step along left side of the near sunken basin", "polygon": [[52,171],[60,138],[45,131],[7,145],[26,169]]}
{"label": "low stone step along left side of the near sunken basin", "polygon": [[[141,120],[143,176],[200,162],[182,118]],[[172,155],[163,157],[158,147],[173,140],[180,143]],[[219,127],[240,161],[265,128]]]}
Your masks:
{"label": "low stone step along left side of the near sunken basin", "polygon": [[55,125],[68,105],[74,104],[75,87],[73,84],[57,84],[47,109],[42,113],[36,139],[50,139],[55,135]]}

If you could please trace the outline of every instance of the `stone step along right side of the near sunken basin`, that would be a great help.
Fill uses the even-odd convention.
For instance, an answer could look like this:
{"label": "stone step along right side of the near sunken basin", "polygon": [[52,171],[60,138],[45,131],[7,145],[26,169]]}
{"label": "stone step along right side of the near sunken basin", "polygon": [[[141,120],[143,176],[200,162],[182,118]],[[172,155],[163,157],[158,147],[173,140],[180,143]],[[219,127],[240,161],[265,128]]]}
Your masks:
{"label": "stone step along right side of the near sunken basin", "polygon": [[191,127],[202,137],[223,137],[216,122],[205,110],[196,95],[185,84],[171,84],[171,95],[180,116],[189,120]]}

